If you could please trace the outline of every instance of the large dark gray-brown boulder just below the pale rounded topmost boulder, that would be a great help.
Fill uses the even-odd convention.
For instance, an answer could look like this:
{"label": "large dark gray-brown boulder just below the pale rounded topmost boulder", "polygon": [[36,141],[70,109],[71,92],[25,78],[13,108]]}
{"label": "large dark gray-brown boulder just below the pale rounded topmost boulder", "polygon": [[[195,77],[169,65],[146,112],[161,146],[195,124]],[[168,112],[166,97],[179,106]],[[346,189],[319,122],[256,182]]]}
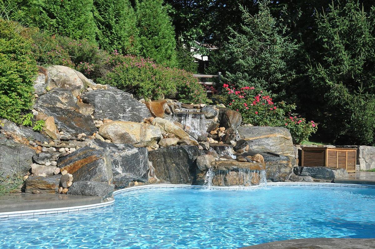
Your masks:
{"label": "large dark gray-brown boulder just below the pale rounded topmost boulder", "polygon": [[97,131],[90,115],[79,112],[77,99],[69,90],[55,88],[37,98],[34,108],[48,116],[54,117],[55,125],[65,135],[87,135]]}

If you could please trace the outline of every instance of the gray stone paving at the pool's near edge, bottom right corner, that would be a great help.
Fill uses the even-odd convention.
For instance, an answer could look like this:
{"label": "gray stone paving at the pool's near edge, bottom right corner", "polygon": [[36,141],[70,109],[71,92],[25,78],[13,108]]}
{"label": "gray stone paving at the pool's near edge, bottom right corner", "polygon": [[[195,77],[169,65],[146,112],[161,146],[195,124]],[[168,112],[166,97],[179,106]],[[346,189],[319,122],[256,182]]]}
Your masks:
{"label": "gray stone paving at the pool's near edge, bottom right corner", "polygon": [[374,249],[375,239],[296,239],[281,240],[240,249]]}

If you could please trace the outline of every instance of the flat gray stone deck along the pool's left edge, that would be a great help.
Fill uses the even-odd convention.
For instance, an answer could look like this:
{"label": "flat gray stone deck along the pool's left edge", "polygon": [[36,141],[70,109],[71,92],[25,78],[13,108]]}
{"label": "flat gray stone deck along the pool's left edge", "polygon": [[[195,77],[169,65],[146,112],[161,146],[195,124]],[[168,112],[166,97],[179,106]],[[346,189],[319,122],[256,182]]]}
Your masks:
{"label": "flat gray stone deck along the pool's left edge", "polygon": [[0,213],[100,203],[99,196],[21,193],[0,196]]}

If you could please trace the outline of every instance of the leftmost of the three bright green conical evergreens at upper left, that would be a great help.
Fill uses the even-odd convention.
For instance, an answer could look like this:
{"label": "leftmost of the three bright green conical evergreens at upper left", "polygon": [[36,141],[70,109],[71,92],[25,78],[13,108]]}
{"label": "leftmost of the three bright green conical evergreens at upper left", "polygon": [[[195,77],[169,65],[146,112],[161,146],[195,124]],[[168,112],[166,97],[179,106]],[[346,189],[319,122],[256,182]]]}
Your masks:
{"label": "leftmost of the three bright green conical evergreens at upper left", "polygon": [[93,18],[93,0],[44,0],[42,30],[73,39],[95,41],[98,28]]}

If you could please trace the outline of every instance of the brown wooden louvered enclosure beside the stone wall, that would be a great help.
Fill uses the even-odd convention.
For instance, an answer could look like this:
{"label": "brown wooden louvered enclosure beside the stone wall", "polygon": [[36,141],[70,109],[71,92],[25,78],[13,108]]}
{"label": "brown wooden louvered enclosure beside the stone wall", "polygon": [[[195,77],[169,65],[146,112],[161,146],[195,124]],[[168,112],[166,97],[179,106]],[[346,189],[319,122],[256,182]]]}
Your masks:
{"label": "brown wooden louvered enclosure beside the stone wall", "polygon": [[346,169],[354,173],[356,160],[357,149],[354,148],[302,147],[301,166]]}

